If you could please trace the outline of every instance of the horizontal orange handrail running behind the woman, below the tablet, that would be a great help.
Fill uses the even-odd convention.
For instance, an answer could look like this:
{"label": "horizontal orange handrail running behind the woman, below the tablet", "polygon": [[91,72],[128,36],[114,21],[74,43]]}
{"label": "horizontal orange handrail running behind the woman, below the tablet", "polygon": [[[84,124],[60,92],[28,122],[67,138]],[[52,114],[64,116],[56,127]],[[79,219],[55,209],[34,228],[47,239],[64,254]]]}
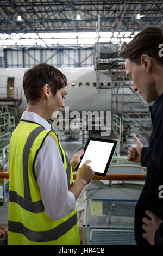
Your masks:
{"label": "horizontal orange handrail running behind the woman, below the tablet", "polygon": [[[9,179],[9,173],[0,172],[0,178]],[[76,174],[73,174],[76,179]],[[94,176],[93,180],[145,180],[146,174],[107,174],[106,177]]]}

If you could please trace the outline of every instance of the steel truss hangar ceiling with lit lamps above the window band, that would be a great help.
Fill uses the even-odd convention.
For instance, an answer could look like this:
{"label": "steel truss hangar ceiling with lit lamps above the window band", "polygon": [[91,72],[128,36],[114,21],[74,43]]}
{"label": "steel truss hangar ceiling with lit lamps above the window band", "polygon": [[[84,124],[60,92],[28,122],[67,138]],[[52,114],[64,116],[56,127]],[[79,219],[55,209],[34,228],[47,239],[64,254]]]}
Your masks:
{"label": "steel truss hangar ceiling with lit lamps above the window band", "polygon": [[101,31],[163,26],[163,2],[1,0],[0,33],[95,32],[99,16]]}

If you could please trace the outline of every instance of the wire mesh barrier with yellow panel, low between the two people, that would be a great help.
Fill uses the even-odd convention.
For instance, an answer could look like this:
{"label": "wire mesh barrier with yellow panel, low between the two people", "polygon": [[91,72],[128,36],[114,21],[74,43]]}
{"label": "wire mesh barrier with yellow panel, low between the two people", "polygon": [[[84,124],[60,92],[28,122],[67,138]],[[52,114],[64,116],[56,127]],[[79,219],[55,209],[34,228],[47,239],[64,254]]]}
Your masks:
{"label": "wire mesh barrier with yellow panel, low between the two people", "polygon": [[136,202],[92,200],[87,206],[83,241],[86,245],[136,245],[134,210]]}

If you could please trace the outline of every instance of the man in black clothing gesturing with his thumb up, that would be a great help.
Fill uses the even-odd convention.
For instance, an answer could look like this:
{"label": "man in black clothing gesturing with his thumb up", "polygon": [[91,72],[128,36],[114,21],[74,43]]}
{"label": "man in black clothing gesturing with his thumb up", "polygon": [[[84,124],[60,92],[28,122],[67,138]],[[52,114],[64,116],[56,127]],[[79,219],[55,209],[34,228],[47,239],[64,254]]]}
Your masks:
{"label": "man in black clothing gesturing with his thumb up", "polygon": [[149,147],[143,147],[134,136],[136,147],[128,149],[128,160],[147,166],[146,182],[135,208],[135,239],[137,245],[162,243],[163,197],[163,43],[162,28],[149,26],[137,34],[120,52],[126,59],[126,75],[133,80],[150,107],[153,132]]}

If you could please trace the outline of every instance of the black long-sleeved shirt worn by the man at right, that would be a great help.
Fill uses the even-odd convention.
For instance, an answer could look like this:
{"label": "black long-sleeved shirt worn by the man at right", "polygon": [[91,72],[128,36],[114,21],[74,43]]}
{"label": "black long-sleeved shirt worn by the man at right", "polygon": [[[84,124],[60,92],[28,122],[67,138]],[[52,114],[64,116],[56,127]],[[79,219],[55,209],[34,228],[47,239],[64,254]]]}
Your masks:
{"label": "black long-sleeved shirt worn by the man at right", "polygon": [[[145,185],[135,207],[135,240],[137,245],[149,245],[142,234],[143,217],[146,210],[152,211],[163,220],[163,198],[159,195],[159,187],[163,185],[163,94],[149,107],[153,124],[153,132],[149,138],[149,147],[141,150],[141,165],[147,166]],[[155,240],[160,239],[159,229]],[[155,241],[157,243],[157,241]]]}

